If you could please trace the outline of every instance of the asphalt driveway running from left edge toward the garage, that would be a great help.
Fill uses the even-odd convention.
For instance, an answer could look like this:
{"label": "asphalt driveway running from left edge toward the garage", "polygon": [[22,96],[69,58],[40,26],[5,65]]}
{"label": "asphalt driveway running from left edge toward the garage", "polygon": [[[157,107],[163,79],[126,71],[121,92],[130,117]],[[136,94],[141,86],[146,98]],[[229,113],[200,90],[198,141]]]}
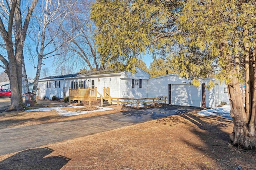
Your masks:
{"label": "asphalt driveway running from left edge toward the garage", "polygon": [[149,109],[127,109],[120,113],[0,129],[0,155],[39,147],[150,121],[170,115],[187,113],[198,107],[164,106]]}

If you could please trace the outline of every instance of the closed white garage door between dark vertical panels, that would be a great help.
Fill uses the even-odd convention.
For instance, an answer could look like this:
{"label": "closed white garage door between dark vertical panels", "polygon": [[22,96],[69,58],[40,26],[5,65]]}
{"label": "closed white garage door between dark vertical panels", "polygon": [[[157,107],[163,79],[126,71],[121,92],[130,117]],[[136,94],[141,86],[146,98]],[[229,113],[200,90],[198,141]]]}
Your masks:
{"label": "closed white garage door between dark vertical panels", "polygon": [[201,107],[201,87],[196,88],[189,84],[171,84],[170,91],[172,105]]}

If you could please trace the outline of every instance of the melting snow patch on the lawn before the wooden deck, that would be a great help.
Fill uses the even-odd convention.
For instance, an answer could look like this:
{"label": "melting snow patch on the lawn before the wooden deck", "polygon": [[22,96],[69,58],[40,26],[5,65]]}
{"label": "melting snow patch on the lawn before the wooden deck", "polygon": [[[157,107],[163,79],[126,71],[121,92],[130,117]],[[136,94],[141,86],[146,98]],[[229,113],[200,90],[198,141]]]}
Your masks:
{"label": "melting snow patch on the lawn before the wooden deck", "polygon": [[40,109],[30,109],[30,110],[26,110],[25,112],[55,110],[61,116],[73,116],[73,115],[82,115],[82,114],[92,113],[92,112],[97,112],[97,111],[113,110],[112,108],[109,108],[109,107],[96,107],[96,110],[89,110],[89,111],[67,111],[66,109],[63,109],[63,107],[82,108],[84,106],[68,105],[68,106],[59,106],[59,107],[47,107],[47,108],[40,108]]}

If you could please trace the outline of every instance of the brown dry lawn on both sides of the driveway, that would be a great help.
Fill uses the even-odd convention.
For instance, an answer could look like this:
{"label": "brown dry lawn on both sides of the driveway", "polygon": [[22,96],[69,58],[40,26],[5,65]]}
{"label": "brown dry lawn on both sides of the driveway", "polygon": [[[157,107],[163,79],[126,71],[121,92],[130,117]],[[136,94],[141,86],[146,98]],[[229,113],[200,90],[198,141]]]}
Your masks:
{"label": "brown dry lawn on both sides of the driveway", "polygon": [[[64,118],[54,112],[1,113],[0,127],[106,113]],[[229,145],[231,132],[232,121],[194,111],[2,155],[0,169],[256,170],[256,152]]]}

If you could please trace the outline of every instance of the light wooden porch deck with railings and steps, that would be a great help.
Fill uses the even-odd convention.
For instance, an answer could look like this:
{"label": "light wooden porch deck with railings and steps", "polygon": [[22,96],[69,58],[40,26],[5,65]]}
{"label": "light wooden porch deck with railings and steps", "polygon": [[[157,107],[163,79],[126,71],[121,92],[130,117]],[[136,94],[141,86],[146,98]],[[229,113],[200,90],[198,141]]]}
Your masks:
{"label": "light wooden porch deck with railings and steps", "polygon": [[[97,94],[100,97],[97,97]],[[71,89],[69,88],[69,103],[71,100],[77,100],[78,104],[80,101],[88,101],[89,106],[91,106],[91,101],[101,100],[101,106],[103,106],[103,100],[110,100],[110,89],[104,87],[104,96],[102,96],[98,91],[97,88],[78,88],[78,89]],[[110,103],[109,103],[110,104]]]}

